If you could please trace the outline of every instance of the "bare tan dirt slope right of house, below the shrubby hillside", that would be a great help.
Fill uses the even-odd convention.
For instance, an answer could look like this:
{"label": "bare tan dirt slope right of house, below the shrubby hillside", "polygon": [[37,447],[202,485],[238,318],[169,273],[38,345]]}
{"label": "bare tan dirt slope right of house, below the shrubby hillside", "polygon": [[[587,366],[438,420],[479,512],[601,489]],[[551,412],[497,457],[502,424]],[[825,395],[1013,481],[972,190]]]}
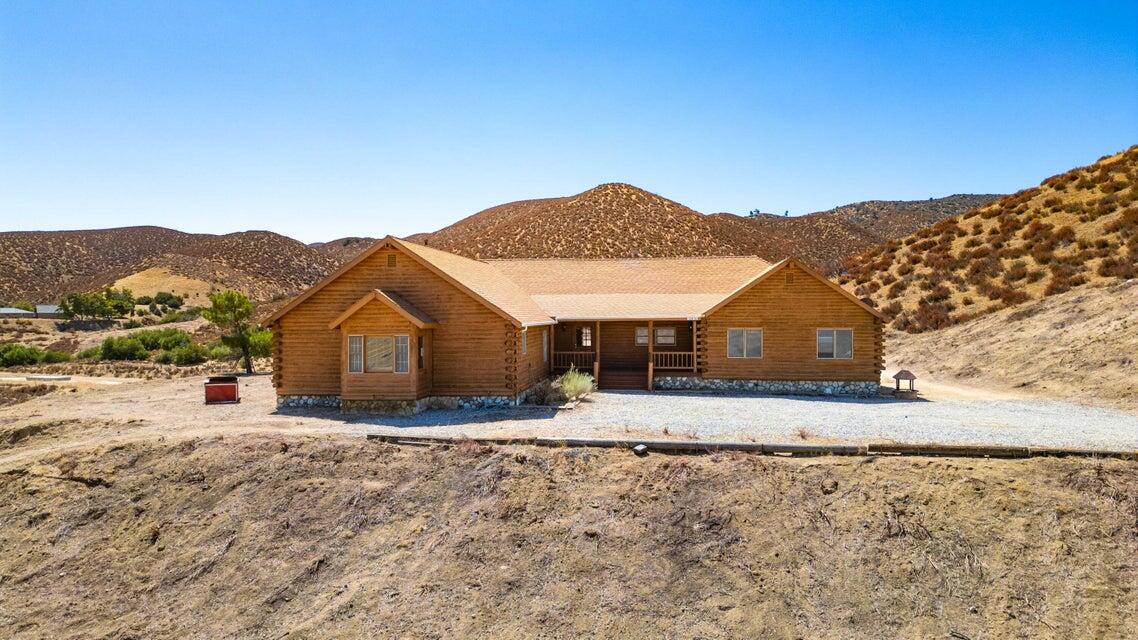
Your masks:
{"label": "bare tan dirt slope right of house, below the shrubby hillside", "polygon": [[894,331],[888,367],[1138,410],[1136,310],[1138,280],[1079,287],[939,331]]}

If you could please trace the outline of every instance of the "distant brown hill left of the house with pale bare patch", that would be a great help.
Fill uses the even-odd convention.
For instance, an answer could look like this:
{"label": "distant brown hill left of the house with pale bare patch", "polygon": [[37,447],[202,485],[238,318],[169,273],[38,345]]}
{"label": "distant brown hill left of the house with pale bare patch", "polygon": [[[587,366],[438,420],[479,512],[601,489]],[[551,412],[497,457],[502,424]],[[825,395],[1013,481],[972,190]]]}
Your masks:
{"label": "distant brown hill left of the house with pale bare patch", "polygon": [[0,300],[58,300],[76,290],[126,286],[200,296],[239,289],[269,300],[304,288],[339,262],[269,231],[213,236],[160,227],[0,233]]}

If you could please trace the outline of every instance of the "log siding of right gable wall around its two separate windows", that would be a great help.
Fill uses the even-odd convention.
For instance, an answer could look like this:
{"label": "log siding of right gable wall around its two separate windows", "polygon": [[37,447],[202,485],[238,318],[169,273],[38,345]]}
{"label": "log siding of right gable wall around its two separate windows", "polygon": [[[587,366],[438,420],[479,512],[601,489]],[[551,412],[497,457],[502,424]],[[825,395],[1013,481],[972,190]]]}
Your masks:
{"label": "log siding of right gable wall around its two separate windows", "polygon": [[[707,378],[877,380],[883,369],[881,321],[794,265],[744,292],[701,325],[700,362]],[[762,329],[762,358],[727,358],[727,329],[735,328]],[[853,330],[852,360],[817,358],[816,330],[826,328]]]}

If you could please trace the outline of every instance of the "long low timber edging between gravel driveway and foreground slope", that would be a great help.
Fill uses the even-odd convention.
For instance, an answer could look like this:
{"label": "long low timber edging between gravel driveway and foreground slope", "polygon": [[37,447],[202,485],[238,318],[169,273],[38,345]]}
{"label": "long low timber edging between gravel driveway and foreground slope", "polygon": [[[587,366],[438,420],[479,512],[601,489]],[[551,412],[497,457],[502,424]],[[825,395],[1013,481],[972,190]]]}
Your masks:
{"label": "long low timber edging between gravel driveway and foreground slope", "polygon": [[591,446],[604,449],[632,449],[643,444],[649,451],[667,453],[714,453],[717,451],[745,451],[772,456],[929,456],[954,458],[1120,458],[1138,460],[1138,451],[1064,449],[1044,446],[1000,446],[1000,445],[960,445],[960,444],[795,444],[795,443],[754,443],[708,440],[605,440],[585,437],[442,437],[442,436],[401,436],[386,434],[368,434],[368,440],[391,444],[431,445],[459,444],[477,442],[481,444],[528,444],[534,446],[574,448]]}

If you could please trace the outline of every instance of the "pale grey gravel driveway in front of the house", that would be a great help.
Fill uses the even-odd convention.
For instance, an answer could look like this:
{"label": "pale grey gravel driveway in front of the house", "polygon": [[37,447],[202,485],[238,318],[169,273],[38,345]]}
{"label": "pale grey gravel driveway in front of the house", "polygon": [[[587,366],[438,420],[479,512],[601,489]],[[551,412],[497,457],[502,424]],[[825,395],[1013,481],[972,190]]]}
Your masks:
{"label": "pale grey gravel driveway in front of the house", "polygon": [[[1138,450],[1138,415],[1069,402],[601,392],[576,409],[430,411],[360,420],[407,435],[562,435],[1008,444]],[[394,430],[389,428],[384,432]]]}

